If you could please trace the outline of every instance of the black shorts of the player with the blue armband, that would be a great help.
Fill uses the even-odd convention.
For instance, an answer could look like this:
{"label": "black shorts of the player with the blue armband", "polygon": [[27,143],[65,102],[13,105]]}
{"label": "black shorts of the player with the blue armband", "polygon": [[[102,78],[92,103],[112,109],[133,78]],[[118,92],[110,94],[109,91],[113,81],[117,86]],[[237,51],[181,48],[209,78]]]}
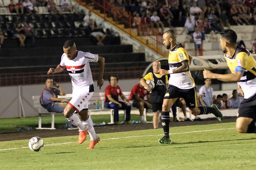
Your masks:
{"label": "black shorts of the player with the blue armband", "polygon": [[256,121],[256,94],[241,102],[237,117],[249,117]]}

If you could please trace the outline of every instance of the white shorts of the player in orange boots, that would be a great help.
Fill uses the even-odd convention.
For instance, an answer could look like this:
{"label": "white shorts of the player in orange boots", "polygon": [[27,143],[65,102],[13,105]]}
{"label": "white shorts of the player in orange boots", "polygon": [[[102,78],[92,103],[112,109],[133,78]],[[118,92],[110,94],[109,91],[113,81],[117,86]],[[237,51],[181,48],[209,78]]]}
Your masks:
{"label": "white shorts of the player in orange boots", "polygon": [[79,113],[82,109],[88,109],[88,101],[92,95],[93,92],[89,92],[89,86],[81,89],[73,89],[72,99],[68,104]]}

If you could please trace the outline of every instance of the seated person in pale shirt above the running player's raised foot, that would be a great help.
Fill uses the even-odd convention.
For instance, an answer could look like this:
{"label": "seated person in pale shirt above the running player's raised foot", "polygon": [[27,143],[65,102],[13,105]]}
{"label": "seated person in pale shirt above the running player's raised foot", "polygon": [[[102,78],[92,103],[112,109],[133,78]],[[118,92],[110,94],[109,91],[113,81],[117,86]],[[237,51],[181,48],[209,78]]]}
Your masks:
{"label": "seated person in pale shirt above the running player's raised foot", "polygon": [[[212,102],[213,102],[213,88],[210,87],[212,83],[211,79],[205,79],[204,80],[204,85],[200,87],[199,89],[199,105],[200,106],[206,106],[206,107],[211,107]],[[200,117],[195,116],[194,121],[202,121]]]}

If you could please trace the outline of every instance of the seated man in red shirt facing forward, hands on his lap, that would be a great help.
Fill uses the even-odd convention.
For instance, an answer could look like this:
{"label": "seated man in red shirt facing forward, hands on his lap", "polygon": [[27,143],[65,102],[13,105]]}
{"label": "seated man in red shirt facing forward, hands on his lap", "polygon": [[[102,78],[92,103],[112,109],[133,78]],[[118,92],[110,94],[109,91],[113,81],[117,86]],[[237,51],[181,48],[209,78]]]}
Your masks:
{"label": "seated man in red shirt facing forward, hands on his lap", "polygon": [[[125,124],[132,124],[130,122],[131,119],[131,106],[128,102],[128,99],[123,95],[122,90],[117,85],[118,79],[115,75],[111,75],[108,79],[110,85],[108,85],[105,89],[105,108],[106,109],[114,109],[114,124],[120,125],[119,122],[119,109],[126,111],[126,119],[124,120]],[[119,101],[118,97],[124,101]]]}

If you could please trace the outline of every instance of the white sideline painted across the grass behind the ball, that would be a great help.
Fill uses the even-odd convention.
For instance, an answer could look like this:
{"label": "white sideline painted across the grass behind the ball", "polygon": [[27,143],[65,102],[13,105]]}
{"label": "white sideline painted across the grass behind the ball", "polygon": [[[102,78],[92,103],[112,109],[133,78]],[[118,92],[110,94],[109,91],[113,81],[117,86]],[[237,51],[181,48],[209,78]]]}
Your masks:
{"label": "white sideline painted across the grass behind the ball", "polygon": [[[235,129],[235,128],[222,128],[222,129],[212,129],[212,130],[198,130],[198,131],[192,131],[192,132],[180,132],[180,133],[169,133],[169,134],[185,134],[185,133],[196,133],[196,132],[208,132],[208,131],[215,131],[215,130],[229,130],[229,129]],[[120,137],[120,138],[109,138],[109,139],[100,139],[100,140],[113,140],[113,139],[122,139],[122,138],[136,138],[136,137],[146,137],[146,136],[161,136],[163,134],[154,134],[154,135],[143,135],[143,136],[126,136],[126,137]],[[85,141],[89,142],[89,141]],[[56,144],[46,144],[44,146],[51,146],[51,145],[58,145],[58,144],[68,144],[68,143],[76,143],[76,142],[65,142],[65,143],[56,143]],[[22,148],[28,148],[22,147]],[[22,148],[8,148],[8,149],[0,149],[1,150],[13,150],[13,149],[22,149]]]}

